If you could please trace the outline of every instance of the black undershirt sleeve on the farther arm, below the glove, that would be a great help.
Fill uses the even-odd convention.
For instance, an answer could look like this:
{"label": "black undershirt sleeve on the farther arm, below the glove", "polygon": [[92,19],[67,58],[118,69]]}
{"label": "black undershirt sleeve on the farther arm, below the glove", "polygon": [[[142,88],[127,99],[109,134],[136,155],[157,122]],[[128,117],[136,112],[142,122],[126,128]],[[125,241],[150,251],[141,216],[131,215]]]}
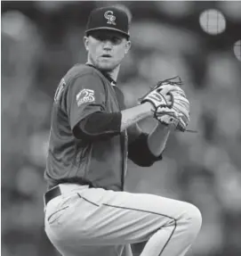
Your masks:
{"label": "black undershirt sleeve on the farther arm, below the glove", "polygon": [[128,146],[128,158],[142,167],[149,167],[155,161],[163,159],[162,154],[155,156],[150,152],[148,136],[147,133],[141,133],[141,135]]}

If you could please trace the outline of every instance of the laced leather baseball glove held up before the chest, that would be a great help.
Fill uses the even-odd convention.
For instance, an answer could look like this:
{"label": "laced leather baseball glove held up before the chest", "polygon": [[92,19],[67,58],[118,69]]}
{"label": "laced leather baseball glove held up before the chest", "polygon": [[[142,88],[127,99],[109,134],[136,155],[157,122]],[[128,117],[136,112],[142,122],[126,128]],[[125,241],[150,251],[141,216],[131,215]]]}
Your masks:
{"label": "laced leather baseball glove held up before the chest", "polygon": [[152,103],[154,117],[162,124],[184,132],[189,124],[189,100],[181,85],[180,77],[159,81],[139,101]]}

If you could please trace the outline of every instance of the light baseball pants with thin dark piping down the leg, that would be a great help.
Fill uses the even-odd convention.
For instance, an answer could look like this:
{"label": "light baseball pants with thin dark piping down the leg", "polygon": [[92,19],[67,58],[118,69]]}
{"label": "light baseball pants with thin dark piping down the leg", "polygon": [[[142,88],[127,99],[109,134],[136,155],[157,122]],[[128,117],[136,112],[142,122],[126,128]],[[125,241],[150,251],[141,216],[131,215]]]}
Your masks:
{"label": "light baseball pants with thin dark piping down the leg", "polygon": [[200,230],[196,206],[153,194],[61,184],[44,208],[45,232],[64,256],[182,256]]}

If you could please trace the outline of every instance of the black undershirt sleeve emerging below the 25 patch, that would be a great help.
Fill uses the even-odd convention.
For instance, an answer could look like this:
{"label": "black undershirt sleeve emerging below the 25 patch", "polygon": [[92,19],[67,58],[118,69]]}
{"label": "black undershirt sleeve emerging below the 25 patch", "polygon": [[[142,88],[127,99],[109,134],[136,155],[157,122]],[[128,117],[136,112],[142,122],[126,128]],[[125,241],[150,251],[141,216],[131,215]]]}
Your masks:
{"label": "black undershirt sleeve emerging below the 25 patch", "polygon": [[96,111],[77,123],[73,129],[76,138],[98,140],[120,134],[121,112]]}

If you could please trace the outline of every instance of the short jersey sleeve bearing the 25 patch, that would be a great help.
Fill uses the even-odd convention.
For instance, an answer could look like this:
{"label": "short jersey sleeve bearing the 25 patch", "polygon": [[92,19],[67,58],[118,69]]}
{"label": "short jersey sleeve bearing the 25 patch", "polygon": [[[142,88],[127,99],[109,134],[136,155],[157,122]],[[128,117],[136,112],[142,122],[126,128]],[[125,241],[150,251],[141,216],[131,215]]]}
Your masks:
{"label": "short jersey sleeve bearing the 25 patch", "polygon": [[73,80],[68,92],[68,118],[71,129],[96,111],[106,111],[106,94],[101,78],[92,73]]}

